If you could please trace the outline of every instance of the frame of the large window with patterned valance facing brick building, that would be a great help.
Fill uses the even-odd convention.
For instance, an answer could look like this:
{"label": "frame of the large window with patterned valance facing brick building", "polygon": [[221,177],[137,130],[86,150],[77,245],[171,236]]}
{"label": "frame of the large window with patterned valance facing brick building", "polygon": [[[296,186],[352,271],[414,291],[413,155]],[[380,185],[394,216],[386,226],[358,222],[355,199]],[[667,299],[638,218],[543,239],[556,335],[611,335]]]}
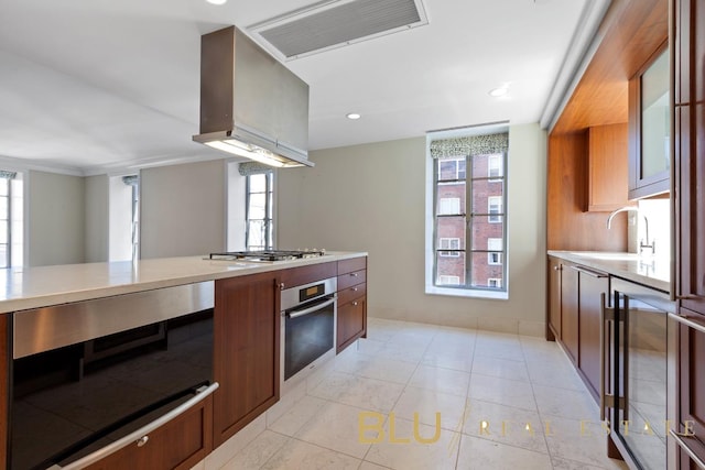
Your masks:
{"label": "frame of the large window with patterned valance facing brick building", "polygon": [[[505,132],[509,133],[509,129],[505,128]],[[444,132],[447,133],[447,132]],[[495,132],[486,132],[486,134],[491,134],[491,133],[497,133]],[[455,133],[456,136],[463,136],[463,135],[484,135],[485,133],[482,132],[475,132],[473,134],[470,133],[466,133],[466,134],[462,134],[462,133]],[[508,299],[509,298],[509,260],[508,260],[508,253],[509,253],[509,240],[508,240],[508,218],[507,218],[507,206],[508,206],[508,198],[509,198],[509,192],[508,192],[508,161],[509,161],[509,149],[507,149],[506,151],[501,152],[501,153],[497,153],[497,157],[495,159],[499,159],[501,164],[500,164],[500,173],[501,176],[497,177],[497,175],[489,175],[489,170],[485,168],[480,168],[477,164],[479,162],[479,160],[474,161],[473,157],[480,157],[480,156],[489,156],[492,154],[481,154],[478,153],[476,155],[447,155],[444,159],[458,159],[458,157],[463,157],[466,160],[466,179],[463,181],[463,183],[465,183],[465,194],[466,194],[466,212],[470,212],[470,214],[462,214],[459,216],[466,217],[466,249],[464,250],[459,250],[458,254],[459,255],[465,255],[466,256],[466,262],[465,262],[465,277],[466,277],[466,282],[463,285],[458,285],[458,286],[454,286],[454,285],[440,285],[438,280],[440,280],[440,275],[437,273],[437,264],[440,262],[441,259],[448,259],[447,256],[444,256],[441,254],[441,251],[445,251],[445,250],[441,250],[441,247],[436,247],[436,243],[440,243],[440,238],[437,237],[437,230],[436,230],[436,217],[438,216],[437,212],[437,204],[438,204],[438,162],[437,159],[434,159],[431,156],[431,142],[432,141],[436,141],[436,140],[443,140],[446,139],[446,136],[438,136],[436,133],[430,133],[426,136],[426,249],[425,249],[425,293],[426,294],[432,294],[432,295],[448,295],[448,296],[459,296],[459,297],[477,297],[477,298],[490,298],[490,299]],[[448,136],[448,139],[453,139],[452,136]],[[489,160],[489,159],[488,159]],[[474,167],[475,165],[475,167]],[[477,173],[478,171],[482,172],[482,173]],[[476,175],[473,175],[473,172],[476,173]],[[452,175],[447,175],[447,173],[445,174],[446,177],[451,177]],[[449,183],[445,179],[441,181],[442,183]],[[501,184],[502,185],[502,190],[501,190],[501,196],[499,196],[500,200],[499,200],[499,205],[497,205],[497,200],[494,200],[494,207],[497,208],[497,206],[499,206],[499,211],[494,211],[496,214],[489,214],[490,212],[490,208],[488,206],[487,209],[487,214],[480,214],[480,211],[477,211],[475,214],[473,214],[471,211],[471,207],[473,204],[475,204],[475,207],[477,207],[477,203],[478,203],[478,196],[479,196],[479,189],[477,184],[480,182],[488,182],[488,183],[492,183],[492,184]],[[473,194],[473,187],[475,185],[475,190],[477,194]],[[475,201],[473,200],[473,196],[475,196]],[[480,201],[481,204],[481,201]],[[484,212],[484,210],[481,210]],[[487,219],[481,220],[480,218],[485,218],[487,217]],[[471,244],[471,239],[473,239],[473,223],[471,221],[475,220],[475,222],[481,222],[481,223],[486,223],[486,221],[491,217],[492,223],[497,223],[500,222],[502,223],[501,227],[501,240],[503,241],[502,243],[502,249],[499,250],[500,252],[499,254],[499,262],[496,264],[490,264],[488,263],[489,259],[490,259],[490,254],[492,252],[497,253],[498,250],[489,250],[486,245],[473,245]],[[447,237],[444,237],[447,238]],[[492,237],[492,238],[497,238],[497,237]],[[482,243],[481,240],[475,240],[475,242],[479,242]],[[478,253],[486,253],[487,256],[484,258],[484,262],[480,260],[477,260],[477,254]],[[473,262],[475,260],[475,266],[473,266]],[[478,264],[479,263],[479,264]],[[487,263],[487,264],[486,264]],[[477,277],[478,272],[474,271],[477,270],[478,266],[489,266],[490,269],[495,267],[495,269],[501,269],[501,272],[497,272],[497,274],[500,274],[501,277],[496,277],[492,276],[491,278],[499,278],[499,285],[500,287],[489,287],[487,285],[482,285],[482,283],[485,282],[481,278],[481,272],[479,273],[480,277],[479,278],[475,278],[475,284],[473,285],[473,274],[476,274],[475,277]],[[453,274],[453,273],[448,273],[448,274]],[[444,276],[448,275],[448,274],[443,274]],[[488,274],[494,274],[491,271],[488,271]],[[486,277],[488,278],[488,277]]]}

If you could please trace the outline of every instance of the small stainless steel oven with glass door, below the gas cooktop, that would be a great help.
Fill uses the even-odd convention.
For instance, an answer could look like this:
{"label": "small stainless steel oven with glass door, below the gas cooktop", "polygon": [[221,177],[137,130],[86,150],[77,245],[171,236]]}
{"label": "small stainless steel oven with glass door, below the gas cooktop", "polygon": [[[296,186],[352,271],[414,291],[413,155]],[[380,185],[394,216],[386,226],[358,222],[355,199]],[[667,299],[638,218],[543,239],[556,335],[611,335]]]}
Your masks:
{"label": "small stainless steel oven with glass door, below the gas cooktop", "polygon": [[335,356],[336,289],[330,277],[282,291],[282,385]]}

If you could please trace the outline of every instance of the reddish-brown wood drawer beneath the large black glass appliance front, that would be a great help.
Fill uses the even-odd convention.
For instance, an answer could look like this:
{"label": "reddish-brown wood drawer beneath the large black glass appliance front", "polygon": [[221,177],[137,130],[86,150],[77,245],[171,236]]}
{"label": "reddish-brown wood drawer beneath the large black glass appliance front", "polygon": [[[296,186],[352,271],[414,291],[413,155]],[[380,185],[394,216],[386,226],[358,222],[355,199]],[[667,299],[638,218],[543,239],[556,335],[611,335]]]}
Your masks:
{"label": "reddish-brown wood drawer beneath the large black glass appliance front", "polygon": [[213,448],[213,397],[208,396],[184,414],[87,467],[89,470],[187,470]]}

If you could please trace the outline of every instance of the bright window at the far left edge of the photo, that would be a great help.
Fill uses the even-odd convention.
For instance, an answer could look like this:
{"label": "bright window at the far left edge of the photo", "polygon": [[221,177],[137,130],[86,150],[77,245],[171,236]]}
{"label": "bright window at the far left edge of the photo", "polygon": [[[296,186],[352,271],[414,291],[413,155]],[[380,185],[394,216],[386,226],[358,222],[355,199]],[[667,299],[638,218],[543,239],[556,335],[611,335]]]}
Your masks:
{"label": "bright window at the far left edge of the photo", "polygon": [[21,175],[0,171],[0,267],[23,264],[23,200]]}

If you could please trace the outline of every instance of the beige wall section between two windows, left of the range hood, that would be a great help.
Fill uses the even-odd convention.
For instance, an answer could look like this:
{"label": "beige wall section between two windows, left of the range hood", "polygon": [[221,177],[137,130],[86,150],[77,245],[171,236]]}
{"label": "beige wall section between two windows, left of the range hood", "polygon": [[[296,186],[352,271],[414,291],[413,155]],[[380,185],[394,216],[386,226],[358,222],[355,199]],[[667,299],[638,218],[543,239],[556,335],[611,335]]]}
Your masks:
{"label": "beige wall section between two windows, left of the range hood", "polygon": [[224,160],[142,170],[140,256],[224,250],[226,178]]}

